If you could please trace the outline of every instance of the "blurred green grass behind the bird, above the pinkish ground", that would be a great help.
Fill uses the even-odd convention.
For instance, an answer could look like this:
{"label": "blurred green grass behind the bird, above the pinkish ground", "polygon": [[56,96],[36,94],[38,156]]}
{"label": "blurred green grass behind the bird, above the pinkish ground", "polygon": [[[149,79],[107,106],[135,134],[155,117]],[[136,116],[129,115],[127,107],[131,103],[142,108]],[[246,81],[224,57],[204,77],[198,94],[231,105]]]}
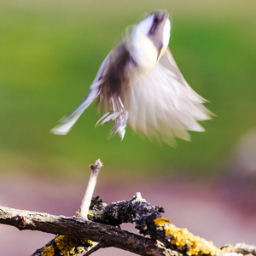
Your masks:
{"label": "blurred green grass behind the bird, above the pinkish ground", "polygon": [[[186,3],[186,4],[184,4]],[[128,129],[107,140],[90,107],[67,137],[49,134],[84,97],[125,26],[155,8],[172,13],[171,49],[189,84],[217,117],[192,143],[157,146]],[[253,1],[2,1],[0,172],[79,172],[101,158],[109,172],[218,173],[236,141],[255,127]]]}

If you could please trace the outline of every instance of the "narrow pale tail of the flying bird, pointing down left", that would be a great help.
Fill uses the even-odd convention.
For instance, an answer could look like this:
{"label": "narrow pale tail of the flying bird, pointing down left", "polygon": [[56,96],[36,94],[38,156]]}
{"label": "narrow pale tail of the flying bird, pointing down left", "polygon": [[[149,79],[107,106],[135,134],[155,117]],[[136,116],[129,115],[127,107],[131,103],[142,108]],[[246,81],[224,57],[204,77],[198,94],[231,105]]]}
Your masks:
{"label": "narrow pale tail of the flying bird, pointing down left", "polygon": [[[96,85],[96,84],[94,84]],[[91,86],[90,92],[84,98],[84,100],[79,104],[77,108],[73,110],[72,113],[63,117],[59,124],[56,125],[52,130],[52,133],[57,135],[66,135],[68,131],[71,130],[73,125],[79,119],[80,115],[84,112],[86,108],[90,106],[90,103],[93,102],[99,94],[99,87],[98,86]]]}

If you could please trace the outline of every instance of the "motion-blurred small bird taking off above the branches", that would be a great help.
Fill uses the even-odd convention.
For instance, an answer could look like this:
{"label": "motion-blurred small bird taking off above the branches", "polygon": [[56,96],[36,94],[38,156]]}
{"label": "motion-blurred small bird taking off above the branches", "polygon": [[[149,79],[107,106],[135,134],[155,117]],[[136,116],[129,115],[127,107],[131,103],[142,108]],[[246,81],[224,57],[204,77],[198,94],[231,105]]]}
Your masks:
{"label": "motion-blurred small bird taking off above the branches", "polygon": [[109,137],[125,137],[127,125],[152,142],[173,146],[175,137],[190,140],[188,131],[205,131],[200,121],[212,112],[177,67],[169,40],[171,21],[157,9],[126,29],[109,52],[90,85],[87,96],[51,132],[66,135],[90,104],[96,101],[102,117],[96,125],[113,122]]}

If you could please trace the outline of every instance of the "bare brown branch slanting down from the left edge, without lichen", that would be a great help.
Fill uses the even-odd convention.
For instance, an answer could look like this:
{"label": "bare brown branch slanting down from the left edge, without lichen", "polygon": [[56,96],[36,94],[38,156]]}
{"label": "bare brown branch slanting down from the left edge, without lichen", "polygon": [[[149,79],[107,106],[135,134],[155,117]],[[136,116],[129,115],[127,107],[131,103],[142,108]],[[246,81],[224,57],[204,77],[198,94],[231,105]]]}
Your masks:
{"label": "bare brown branch slanting down from the left edge, without lichen", "polygon": [[139,255],[174,255],[160,247],[154,239],[132,234],[106,224],[97,224],[74,217],[30,212],[0,206],[0,223],[19,230],[38,230],[64,236],[75,236],[92,241],[104,241],[108,247],[117,247]]}

